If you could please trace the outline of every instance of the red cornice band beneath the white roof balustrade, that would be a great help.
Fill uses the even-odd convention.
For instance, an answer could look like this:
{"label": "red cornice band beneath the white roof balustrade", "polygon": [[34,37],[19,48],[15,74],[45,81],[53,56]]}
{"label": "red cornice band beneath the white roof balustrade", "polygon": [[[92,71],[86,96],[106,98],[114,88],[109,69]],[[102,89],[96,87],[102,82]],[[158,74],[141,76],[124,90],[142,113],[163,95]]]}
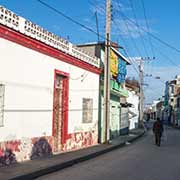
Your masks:
{"label": "red cornice band beneath the white roof balustrade", "polygon": [[81,61],[71,55],[68,55],[60,50],[57,50],[51,46],[48,46],[38,40],[32,39],[24,34],[16,32],[6,26],[0,25],[0,37],[10,40],[10,41],[13,41],[17,44],[23,45],[27,48],[33,49],[40,53],[46,54],[48,56],[54,57],[63,62],[80,67],[87,71],[90,71],[90,72],[93,72],[96,74],[101,74],[100,68],[90,65],[84,61]]}

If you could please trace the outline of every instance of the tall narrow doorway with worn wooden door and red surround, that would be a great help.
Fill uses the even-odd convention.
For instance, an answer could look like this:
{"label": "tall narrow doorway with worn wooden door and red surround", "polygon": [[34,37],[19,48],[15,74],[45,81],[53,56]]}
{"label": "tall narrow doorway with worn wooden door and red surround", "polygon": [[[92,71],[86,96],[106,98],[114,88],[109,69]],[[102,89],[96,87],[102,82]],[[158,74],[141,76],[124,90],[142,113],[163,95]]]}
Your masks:
{"label": "tall narrow doorway with worn wooden door and red surround", "polygon": [[62,144],[67,132],[68,114],[68,77],[55,71],[54,108],[53,108],[53,140],[54,152],[62,150]]}

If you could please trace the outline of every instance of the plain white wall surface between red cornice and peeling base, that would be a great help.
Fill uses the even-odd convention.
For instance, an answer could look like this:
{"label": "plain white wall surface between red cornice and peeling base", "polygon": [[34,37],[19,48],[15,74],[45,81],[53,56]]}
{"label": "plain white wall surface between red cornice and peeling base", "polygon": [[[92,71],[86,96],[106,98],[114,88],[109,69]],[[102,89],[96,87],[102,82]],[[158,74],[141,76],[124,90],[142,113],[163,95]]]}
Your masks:
{"label": "plain white wall surface between red cornice and peeling base", "polygon": [[[98,120],[99,76],[0,38],[0,83],[5,84],[0,141],[52,135],[54,69],[70,73],[69,129],[87,131]],[[84,80],[81,75],[85,75]],[[90,91],[92,90],[93,91]],[[93,98],[93,123],[82,125],[82,98]]]}

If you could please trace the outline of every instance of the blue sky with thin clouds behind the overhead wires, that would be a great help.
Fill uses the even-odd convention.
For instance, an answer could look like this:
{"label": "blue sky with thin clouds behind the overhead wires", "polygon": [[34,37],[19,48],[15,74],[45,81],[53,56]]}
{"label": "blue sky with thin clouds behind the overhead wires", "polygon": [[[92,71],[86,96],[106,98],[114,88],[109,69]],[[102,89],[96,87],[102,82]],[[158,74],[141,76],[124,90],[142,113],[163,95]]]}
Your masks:
{"label": "blue sky with thin clouds behind the overhead wires", "polygon": [[[95,12],[97,11],[100,34],[102,36],[104,35],[105,0],[43,1],[94,30],[96,30]],[[134,11],[132,10],[131,2]],[[96,35],[73,24],[43,6],[37,0],[0,0],[0,5],[63,38],[69,39],[72,43],[80,44],[97,41]],[[145,77],[145,82],[149,85],[148,87],[144,87],[145,101],[146,103],[150,103],[153,99],[157,99],[163,95],[164,82],[166,80],[170,80],[176,74],[180,74],[180,53],[162,45],[152,37],[149,38],[142,29],[137,28],[129,20],[124,18],[122,14],[133,22],[137,20],[141,28],[150,31],[150,33],[180,49],[180,1],[144,0],[149,29],[146,26],[141,0],[112,0],[112,5],[112,40],[122,45],[130,57],[156,57],[155,60],[144,63],[145,74],[152,74],[153,77],[161,77],[161,80]],[[143,45],[143,41],[145,46]],[[133,63],[137,66],[136,61],[133,61]],[[129,66],[128,76],[138,77],[133,66]]]}

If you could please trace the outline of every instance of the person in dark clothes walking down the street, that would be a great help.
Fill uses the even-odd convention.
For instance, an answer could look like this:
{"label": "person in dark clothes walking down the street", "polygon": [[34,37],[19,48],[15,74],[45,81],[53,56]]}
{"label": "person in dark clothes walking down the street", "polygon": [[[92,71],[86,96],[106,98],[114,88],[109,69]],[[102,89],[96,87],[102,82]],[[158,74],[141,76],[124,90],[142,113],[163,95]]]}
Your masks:
{"label": "person in dark clothes walking down the street", "polygon": [[155,135],[155,143],[157,146],[161,145],[161,136],[164,131],[163,124],[160,121],[160,118],[157,118],[157,121],[153,124],[153,132]]}

